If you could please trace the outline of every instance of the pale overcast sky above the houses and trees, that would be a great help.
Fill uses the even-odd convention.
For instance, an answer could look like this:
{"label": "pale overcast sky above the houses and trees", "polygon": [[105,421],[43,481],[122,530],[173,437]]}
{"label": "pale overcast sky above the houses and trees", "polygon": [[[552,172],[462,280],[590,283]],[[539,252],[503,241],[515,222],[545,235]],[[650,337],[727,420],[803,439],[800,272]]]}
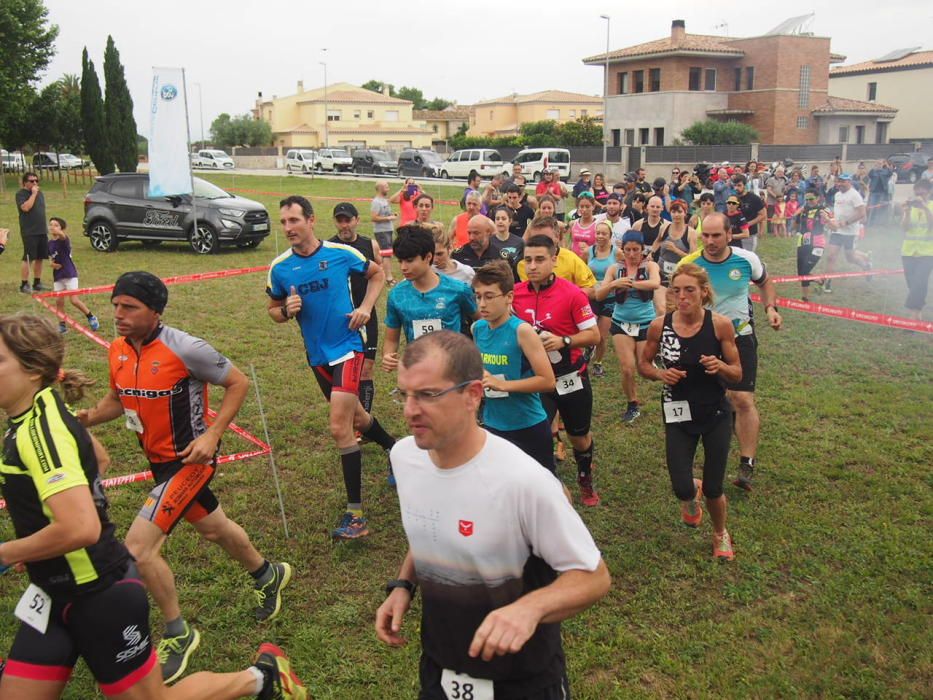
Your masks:
{"label": "pale overcast sky above the houses and trees", "polygon": [[[139,132],[148,135],[153,66],[181,66],[188,81],[191,137],[221,112],[243,114],[264,96],[369,79],[420,88],[426,97],[460,104],[546,89],[602,94],[602,70],[581,59],[667,36],[672,19],[688,33],[763,34],[784,19],[815,12],[811,31],[832,37],[847,63],[894,49],[924,46],[933,10],[920,0],[651,0],[579,5],[566,0],[45,0],[60,28],[57,54],[43,84],[81,74],[87,46],[103,82],[103,53],[113,35],[126,68]],[[879,11],[879,5],[883,10]],[[637,7],[639,14],[631,8]],[[650,11],[646,11],[650,8]],[[722,25],[727,26],[722,26]],[[875,38],[869,36],[869,31]],[[326,52],[323,49],[327,49]],[[102,86],[103,87],[103,86]]]}

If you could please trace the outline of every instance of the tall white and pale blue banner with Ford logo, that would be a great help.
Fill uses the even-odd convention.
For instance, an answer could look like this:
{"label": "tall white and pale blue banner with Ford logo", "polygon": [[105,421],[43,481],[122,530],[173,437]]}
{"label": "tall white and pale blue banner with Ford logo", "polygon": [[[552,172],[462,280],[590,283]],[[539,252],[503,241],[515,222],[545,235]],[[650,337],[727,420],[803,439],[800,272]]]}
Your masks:
{"label": "tall white and pale blue banner with Ford logo", "polygon": [[188,108],[183,68],[152,69],[149,195],[191,194]]}

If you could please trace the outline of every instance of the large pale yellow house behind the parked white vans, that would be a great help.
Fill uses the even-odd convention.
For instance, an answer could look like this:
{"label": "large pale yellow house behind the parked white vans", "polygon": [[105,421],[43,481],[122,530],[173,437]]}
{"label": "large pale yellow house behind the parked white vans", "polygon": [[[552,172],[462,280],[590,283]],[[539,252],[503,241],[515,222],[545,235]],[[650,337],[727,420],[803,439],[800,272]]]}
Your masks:
{"label": "large pale yellow house behind the parked white vans", "polygon": [[260,94],[253,116],[269,123],[280,148],[430,148],[433,131],[412,115],[412,103],[386,92],[350,83],[298,91],[264,100]]}

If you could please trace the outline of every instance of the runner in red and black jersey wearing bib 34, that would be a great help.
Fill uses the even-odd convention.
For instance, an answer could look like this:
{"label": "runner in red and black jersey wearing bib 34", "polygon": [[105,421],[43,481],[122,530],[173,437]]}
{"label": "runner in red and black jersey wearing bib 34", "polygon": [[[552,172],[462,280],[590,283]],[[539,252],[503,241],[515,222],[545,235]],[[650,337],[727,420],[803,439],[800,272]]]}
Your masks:
{"label": "runner in red and black jersey wearing bib 34", "polygon": [[599,329],[586,294],[554,273],[557,251],[553,238],[547,235],[534,235],[525,244],[528,281],[515,286],[512,310],[544,341],[557,386],[542,394],[541,401],[549,422],[558,413],[563,419],[573,446],[583,504],[596,506],[599,494],[593,486],[590,432],[593,390],[583,349],[599,342]]}

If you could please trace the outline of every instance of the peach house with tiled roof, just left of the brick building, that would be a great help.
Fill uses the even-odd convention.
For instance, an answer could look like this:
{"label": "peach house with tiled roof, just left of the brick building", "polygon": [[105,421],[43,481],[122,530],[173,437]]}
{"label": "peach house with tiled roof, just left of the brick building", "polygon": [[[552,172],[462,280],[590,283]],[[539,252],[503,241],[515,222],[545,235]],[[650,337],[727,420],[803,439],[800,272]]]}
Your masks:
{"label": "peach house with tiled roof, just left of the brick building", "polygon": [[522,124],[553,119],[570,122],[580,117],[602,118],[603,98],[563,90],[530,95],[511,94],[477,102],[470,108],[470,136],[515,136]]}

